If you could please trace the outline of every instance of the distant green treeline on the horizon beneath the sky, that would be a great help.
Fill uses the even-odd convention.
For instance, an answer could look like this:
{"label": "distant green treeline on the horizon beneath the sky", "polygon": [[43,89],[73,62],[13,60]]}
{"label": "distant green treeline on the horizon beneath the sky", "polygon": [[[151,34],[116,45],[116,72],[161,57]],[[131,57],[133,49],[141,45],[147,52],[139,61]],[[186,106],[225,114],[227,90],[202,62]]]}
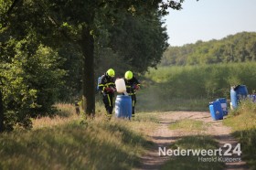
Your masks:
{"label": "distant green treeline on the horizon beneath the sky", "polygon": [[256,61],[256,32],[241,32],[220,40],[198,40],[195,44],[183,47],[169,47],[162,58],[161,66],[246,61]]}

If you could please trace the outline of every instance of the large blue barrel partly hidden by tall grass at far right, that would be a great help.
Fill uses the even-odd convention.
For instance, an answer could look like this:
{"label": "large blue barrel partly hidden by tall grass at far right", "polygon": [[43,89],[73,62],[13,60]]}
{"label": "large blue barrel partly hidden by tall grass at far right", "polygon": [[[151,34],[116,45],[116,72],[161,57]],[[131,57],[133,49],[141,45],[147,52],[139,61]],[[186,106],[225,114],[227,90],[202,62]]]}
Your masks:
{"label": "large blue barrel partly hidden by tall grass at far right", "polygon": [[240,100],[245,99],[248,95],[248,90],[245,85],[238,85],[236,87],[231,87],[230,90],[230,100],[232,108],[238,107]]}

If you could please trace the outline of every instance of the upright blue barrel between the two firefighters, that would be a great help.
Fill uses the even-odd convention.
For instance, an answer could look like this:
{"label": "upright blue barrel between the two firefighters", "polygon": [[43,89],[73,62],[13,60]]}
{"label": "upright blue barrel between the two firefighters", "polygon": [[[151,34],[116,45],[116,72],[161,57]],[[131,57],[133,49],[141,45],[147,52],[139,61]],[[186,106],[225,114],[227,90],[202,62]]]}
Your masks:
{"label": "upright blue barrel between the two firefighters", "polygon": [[131,96],[117,95],[115,100],[115,115],[118,118],[132,117],[132,98]]}

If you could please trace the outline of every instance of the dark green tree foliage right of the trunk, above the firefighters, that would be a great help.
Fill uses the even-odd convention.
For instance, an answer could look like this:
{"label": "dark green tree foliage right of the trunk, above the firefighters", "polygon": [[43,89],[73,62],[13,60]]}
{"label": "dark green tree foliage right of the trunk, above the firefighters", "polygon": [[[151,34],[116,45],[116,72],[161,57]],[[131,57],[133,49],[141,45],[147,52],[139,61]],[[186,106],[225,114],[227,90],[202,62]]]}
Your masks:
{"label": "dark green tree foliage right of the trunk, above the firefighters", "polygon": [[101,11],[96,14],[95,23],[99,27],[95,31],[96,75],[109,68],[123,76],[127,69],[143,73],[149,66],[155,67],[168,46],[165,27],[155,9],[146,16],[119,11],[114,18],[114,23],[109,23]]}

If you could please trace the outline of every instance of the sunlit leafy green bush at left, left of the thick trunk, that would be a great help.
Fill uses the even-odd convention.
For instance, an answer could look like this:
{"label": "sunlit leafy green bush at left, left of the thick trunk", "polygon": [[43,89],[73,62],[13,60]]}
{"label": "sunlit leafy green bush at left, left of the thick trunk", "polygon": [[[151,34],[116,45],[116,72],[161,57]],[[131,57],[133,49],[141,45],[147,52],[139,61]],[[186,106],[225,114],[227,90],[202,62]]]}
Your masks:
{"label": "sunlit leafy green bush at left, left of the thick trunk", "polygon": [[57,101],[61,78],[61,59],[51,48],[39,46],[35,54],[29,53],[27,40],[16,43],[16,55],[2,63],[2,92],[5,105],[5,124],[11,129],[16,123],[30,127],[29,117],[52,114]]}

